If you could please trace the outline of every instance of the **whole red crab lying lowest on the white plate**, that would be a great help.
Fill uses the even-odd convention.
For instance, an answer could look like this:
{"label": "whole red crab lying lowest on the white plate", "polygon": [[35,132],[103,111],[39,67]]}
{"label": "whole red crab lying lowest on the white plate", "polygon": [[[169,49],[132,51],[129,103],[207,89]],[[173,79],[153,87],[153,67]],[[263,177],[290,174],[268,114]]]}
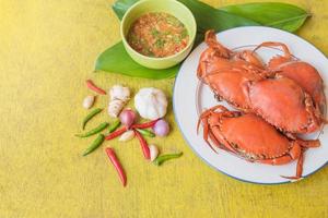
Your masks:
{"label": "whole red crab lying lowest on the white plate", "polygon": [[290,140],[258,116],[223,106],[204,111],[200,121],[208,143],[210,137],[215,146],[248,161],[285,165],[298,159],[297,178],[302,175],[303,149],[319,146],[319,141]]}

